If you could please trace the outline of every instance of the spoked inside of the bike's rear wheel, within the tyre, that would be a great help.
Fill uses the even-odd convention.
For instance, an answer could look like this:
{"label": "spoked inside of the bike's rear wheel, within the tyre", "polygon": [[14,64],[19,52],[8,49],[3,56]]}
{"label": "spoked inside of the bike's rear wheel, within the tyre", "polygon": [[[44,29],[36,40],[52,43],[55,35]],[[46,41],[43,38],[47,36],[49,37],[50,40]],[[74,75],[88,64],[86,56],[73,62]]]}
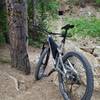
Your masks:
{"label": "spoked inside of the bike's rear wheel, within the tyre", "polygon": [[86,87],[87,85],[85,77],[86,73],[84,67],[80,62],[80,60],[76,59],[75,57],[70,57],[69,59],[67,59],[67,61],[64,63],[64,66],[67,70],[66,74],[68,74],[70,77],[70,78],[63,77],[64,85],[66,85],[65,86],[66,91],[68,92],[72,100],[75,100],[75,97],[78,97],[77,100],[81,100],[82,94],[85,93],[85,88],[83,90],[81,89],[83,87]]}

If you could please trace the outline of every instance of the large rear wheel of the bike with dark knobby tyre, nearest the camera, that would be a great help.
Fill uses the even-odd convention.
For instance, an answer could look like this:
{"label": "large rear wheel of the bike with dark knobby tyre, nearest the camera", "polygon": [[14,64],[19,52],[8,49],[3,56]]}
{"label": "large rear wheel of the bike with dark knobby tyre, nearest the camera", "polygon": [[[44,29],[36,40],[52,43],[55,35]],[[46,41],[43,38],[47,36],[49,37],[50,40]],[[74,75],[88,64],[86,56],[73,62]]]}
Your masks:
{"label": "large rear wheel of the bike with dark knobby tyre, nearest the camera", "polygon": [[[90,100],[93,93],[94,80],[88,60],[81,53],[68,52],[63,57],[63,63],[67,71],[66,65],[73,66],[77,71],[77,75],[72,71],[68,71],[67,73],[71,74],[70,78],[63,77],[60,73],[58,74],[59,87],[64,100]],[[78,80],[76,80],[76,77]]]}

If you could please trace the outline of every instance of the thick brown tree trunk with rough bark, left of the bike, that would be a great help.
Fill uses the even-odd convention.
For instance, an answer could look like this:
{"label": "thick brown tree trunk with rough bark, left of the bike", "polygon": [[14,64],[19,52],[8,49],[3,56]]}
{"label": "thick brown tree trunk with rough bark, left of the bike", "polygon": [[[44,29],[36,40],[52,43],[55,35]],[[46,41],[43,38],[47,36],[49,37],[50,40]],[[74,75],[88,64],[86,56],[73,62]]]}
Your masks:
{"label": "thick brown tree trunk with rough bark, left of the bike", "polygon": [[30,63],[27,54],[27,1],[6,0],[9,40],[12,67],[30,73]]}

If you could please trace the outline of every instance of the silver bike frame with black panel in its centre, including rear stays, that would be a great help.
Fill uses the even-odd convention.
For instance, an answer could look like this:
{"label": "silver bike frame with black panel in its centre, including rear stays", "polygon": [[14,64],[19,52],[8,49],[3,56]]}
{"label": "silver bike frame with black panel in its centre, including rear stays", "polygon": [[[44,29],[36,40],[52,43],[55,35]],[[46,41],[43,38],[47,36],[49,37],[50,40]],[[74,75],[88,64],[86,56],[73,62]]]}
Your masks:
{"label": "silver bike frame with black panel in its centre, including rear stays", "polygon": [[[66,76],[66,73],[68,72],[68,70],[66,70],[63,60],[62,60],[63,53],[64,53],[64,45],[65,45],[64,37],[61,41],[61,44],[58,46],[55,43],[55,41],[53,40],[52,36],[48,35],[46,47],[48,47],[50,49],[50,52],[52,52],[54,68],[53,68],[53,70],[50,71],[50,73],[47,76],[51,75],[52,72],[54,72],[54,71],[61,73],[64,77]],[[46,47],[44,44],[43,49]],[[76,72],[76,70],[74,69],[74,67],[72,65],[70,65],[70,66],[66,65],[66,67],[67,67],[67,69]],[[69,75],[67,77],[69,77]]]}

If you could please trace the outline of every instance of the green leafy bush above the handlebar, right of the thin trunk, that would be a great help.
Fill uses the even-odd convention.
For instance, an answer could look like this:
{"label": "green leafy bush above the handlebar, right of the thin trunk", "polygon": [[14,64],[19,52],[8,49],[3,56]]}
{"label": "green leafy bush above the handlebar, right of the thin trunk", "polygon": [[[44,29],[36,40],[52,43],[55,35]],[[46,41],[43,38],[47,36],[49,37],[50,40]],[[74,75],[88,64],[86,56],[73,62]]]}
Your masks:
{"label": "green leafy bush above the handlebar, right of the thin trunk", "polygon": [[48,20],[57,16],[59,3],[57,0],[38,0],[36,5],[38,24],[47,29]]}

